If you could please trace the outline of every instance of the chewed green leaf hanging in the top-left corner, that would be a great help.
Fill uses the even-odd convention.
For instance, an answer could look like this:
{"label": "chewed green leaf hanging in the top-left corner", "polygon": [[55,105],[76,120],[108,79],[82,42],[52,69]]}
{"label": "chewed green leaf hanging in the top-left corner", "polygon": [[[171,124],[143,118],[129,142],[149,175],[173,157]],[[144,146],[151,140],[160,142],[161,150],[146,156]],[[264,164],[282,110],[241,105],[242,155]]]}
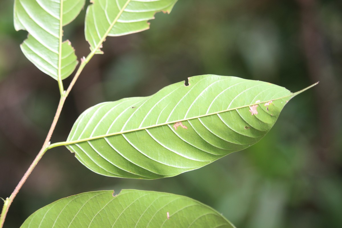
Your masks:
{"label": "chewed green leaf hanging in the top-left corner", "polygon": [[78,61],[68,40],[62,41],[64,25],[73,21],[85,0],[15,0],[15,30],[29,35],[21,44],[25,56],[52,78],[67,78]]}

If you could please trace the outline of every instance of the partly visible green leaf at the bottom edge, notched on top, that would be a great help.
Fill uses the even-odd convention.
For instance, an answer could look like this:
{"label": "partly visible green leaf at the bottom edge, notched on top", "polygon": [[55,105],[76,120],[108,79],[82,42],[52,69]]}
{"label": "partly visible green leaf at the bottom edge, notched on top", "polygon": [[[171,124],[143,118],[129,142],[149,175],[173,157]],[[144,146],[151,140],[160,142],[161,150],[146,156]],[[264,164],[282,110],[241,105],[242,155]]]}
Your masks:
{"label": "partly visible green leaf at the bottom edge, notched on top", "polygon": [[226,227],[234,226],[211,207],[170,193],[122,190],[86,192],[53,202],[32,215],[24,227]]}

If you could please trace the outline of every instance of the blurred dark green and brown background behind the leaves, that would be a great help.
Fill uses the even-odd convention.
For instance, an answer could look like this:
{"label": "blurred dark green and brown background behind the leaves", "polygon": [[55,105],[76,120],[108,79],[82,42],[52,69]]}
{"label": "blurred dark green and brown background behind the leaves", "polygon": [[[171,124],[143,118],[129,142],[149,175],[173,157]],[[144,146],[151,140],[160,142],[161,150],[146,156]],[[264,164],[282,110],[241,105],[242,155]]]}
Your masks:
{"label": "blurred dark green and brown background behind the leaves", "polygon": [[[14,30],[12,12],[13,1],[0,1],[2,198],[35,158],[59,100],[56,81],[22,54],[19,44],[27,32]],[[78,58],[90,52],[84,14],[64,28]],[[320,83],[292,99],[259,143],[176,177],[100,176],[66,148],[49,150],[14,200],[4,227],[19,227],[63,197],[124,188],[194,198],[237,228],[342,227],[342,1],[179,0],[170,15],[156,15],[150,30],[108,38],[103,50],[67,98],[52,143],[64,141],[92,105],[151,95],[190,76],[237,76],[293,92]]]}

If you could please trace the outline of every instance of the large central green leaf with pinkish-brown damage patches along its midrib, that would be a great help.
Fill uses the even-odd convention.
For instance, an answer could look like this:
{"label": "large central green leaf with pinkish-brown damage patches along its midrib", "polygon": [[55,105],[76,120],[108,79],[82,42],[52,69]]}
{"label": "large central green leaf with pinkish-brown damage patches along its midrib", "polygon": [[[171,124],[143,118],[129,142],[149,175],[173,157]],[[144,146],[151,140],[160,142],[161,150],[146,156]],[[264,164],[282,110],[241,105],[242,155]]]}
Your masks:
{"label": "large central green leaf with pinkish-brown damage patches along its midrib", "polygon": [[175,176],[257,143],[298,93],[236,77],[191,77],[188,86],[179,82],[152,96],[87,109],[67,142],[51,148],[66,145],[106,176]]}

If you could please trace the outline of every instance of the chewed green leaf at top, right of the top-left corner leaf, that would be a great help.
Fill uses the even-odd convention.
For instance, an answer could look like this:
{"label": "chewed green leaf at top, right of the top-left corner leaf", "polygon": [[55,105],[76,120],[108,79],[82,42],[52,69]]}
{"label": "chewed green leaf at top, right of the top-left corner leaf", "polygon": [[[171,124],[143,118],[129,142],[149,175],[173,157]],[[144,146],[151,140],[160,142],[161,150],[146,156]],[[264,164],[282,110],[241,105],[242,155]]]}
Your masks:
{"label": "chewed green leaf at top, right of the top-left corner leaf", "polygon": [[90,50],[100,50],[107,36],[123,36],[149,28],[157,12],[170,13],[177,0],[93,0],[86,14],[86,40]]}

